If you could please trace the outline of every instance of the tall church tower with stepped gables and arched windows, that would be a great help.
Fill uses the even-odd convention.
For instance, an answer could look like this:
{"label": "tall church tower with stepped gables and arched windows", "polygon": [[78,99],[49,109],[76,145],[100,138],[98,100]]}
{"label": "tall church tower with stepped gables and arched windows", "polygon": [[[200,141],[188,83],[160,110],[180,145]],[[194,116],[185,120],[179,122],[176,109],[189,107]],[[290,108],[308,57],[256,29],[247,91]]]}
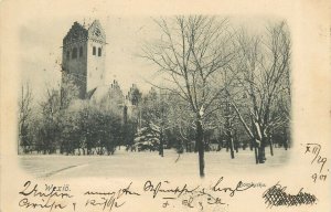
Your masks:
{"label": "tall church tower with stepped gables and arched windows", "polygon": [[98,20],[90,25],[74,22],[63,39],[62,84],[72,80],[78,87],[78,97],[104,85],[106,34]]}

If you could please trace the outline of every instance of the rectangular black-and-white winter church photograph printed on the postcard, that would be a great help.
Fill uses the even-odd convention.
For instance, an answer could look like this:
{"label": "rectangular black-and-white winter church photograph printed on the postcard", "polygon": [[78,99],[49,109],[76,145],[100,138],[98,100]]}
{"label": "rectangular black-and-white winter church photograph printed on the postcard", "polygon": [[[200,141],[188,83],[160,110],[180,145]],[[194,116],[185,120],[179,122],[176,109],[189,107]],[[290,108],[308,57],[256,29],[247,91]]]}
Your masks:
{"label": "rectangular black-and-white winter church photograph printed on the postcard", "polygon": [[54,23],[63,33],[40,20],[20,34],[26,51],[18,153],[28,172],[158,177],[162,170],[204,177],[221,167],[281,167],[290,158],[286,20],[172,15],[65,22]]}

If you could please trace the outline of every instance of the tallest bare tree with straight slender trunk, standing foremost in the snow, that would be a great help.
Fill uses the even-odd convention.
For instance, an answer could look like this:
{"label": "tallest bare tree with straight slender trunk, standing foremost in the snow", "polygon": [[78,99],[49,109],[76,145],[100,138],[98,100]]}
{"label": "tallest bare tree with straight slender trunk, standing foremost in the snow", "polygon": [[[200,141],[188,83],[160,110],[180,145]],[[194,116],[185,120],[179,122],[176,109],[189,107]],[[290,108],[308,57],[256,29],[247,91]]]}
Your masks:
{"label": "tallest bare tree with straight slender trunk, standing foremost in the snow", "polygon": [[190,15],[156,21],[161,30],[157,43],[143,49],[145,57],[167,75],[169,86],[194,114],[200,176],[204,177],[204,125],[206,117],[220,109],[215,104],[222,94],[220,70],[235,56],[227,19]]}

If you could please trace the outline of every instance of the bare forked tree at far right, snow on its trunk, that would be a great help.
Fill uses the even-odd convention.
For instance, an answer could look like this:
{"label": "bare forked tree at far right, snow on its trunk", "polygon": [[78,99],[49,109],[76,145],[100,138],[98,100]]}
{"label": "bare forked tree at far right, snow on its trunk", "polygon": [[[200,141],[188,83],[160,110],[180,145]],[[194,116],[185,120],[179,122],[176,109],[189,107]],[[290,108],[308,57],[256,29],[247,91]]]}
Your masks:
{"label": "bare forked tree at far right, snow on its trunk", "polygon": [[234,95],[227,91],[245,130],[254,140],[257,163],[266,160],[265,147],[271,129],[287,121],[284,114],[286,109],[279,109],[285,87],[290,95],[287,84],[290,70],[290,36],[286,23],[280,22],[268,28],[266,38],[264,40],[249,36],[244,31],[237,35],[241,50],[235,63],[236,72],[239,73],[237,84],[246,97],[241,104],[244,104],[246,113],[249,113],[249,118],[245,118],[244,109],[241,110]]}

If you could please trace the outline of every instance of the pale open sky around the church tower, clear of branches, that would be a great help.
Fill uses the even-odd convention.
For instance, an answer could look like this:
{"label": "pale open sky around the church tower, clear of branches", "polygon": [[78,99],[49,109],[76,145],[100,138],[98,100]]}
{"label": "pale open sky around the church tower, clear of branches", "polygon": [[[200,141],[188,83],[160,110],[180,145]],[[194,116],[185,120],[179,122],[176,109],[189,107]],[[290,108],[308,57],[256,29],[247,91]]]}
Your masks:
{"label": "pale open sky around the church tower, clear of branches", "polygon": [[[106,32],[105,83],[119,82],[126,94],[132,84],[147,92],[157,81],[157,67],[138,56],[145,42],[160,38],[151,17],[43,17],[25,20],[20,26],[20,59],[22,83],[32,87],[36,99],[43,97],[46,87],[58,87],[61,82],[62,40],[75,21],[90,23],[100,21]],[[250,25],[260,29],[265,19],[232,19],[233,25]],[[254,23],[254,24],[252,24]],[[252,26],[253,25],[253,26]]]}

